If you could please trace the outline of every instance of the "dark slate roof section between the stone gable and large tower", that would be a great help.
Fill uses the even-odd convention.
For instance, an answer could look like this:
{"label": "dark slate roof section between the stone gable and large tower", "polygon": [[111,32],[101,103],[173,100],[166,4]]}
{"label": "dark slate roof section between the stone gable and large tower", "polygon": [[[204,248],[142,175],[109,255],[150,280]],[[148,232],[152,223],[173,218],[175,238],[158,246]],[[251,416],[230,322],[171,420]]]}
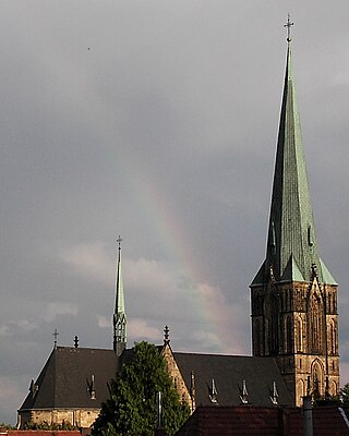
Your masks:
{"label": "dark slate roof section between the stone gable and large tower", "polygon": [[194,372],[196,405],[212,404],[209,390],[213,379],[219,405],[241,404],[243,380],[250,404],[273,405],[270,396],[275,382],[279,396],[278,403],[292,405],[274,358],[177,352],[173,352],[173,355],[188,388],[191,385],[191,372]]}

